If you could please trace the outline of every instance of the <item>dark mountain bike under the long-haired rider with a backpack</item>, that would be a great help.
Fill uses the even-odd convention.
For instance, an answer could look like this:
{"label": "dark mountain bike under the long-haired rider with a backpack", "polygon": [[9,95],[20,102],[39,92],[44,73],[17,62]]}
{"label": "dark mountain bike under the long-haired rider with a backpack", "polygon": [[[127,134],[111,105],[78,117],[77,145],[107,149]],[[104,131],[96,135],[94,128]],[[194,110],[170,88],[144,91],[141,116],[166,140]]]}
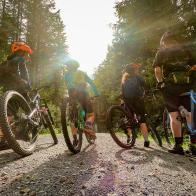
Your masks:
{"label": "dark mountain bike under the long-haired rider with a backpack", "polygon": [[[124,101],[120,105],[113,105],[107,112],[107,128],[113,140],[122,148],[130,149],[134,146],[139,128],[139,119],[134,108],[129,108]],[[153,124],[146,115],[148,131],[154,141],[162,146],[162,140]]]}

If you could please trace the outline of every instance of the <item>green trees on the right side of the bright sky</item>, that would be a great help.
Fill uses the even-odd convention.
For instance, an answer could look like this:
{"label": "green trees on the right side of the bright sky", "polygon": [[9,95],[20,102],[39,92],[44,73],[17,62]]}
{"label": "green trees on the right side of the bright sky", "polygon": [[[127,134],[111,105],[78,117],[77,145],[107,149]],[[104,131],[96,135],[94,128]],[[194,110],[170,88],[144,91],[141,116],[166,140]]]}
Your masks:
{"label": "green trees on the right side of the bright sky", "polygon": [[173,29],[188,41],[196,38],[193,0],[122,0],[115,9],[118,21],[113,24],[114,39],[95,72],[96,85],[110,103],[120,94],[122,65],[127,63],[141,63],[149,87],[155,86],[152,63],[166,30]]}

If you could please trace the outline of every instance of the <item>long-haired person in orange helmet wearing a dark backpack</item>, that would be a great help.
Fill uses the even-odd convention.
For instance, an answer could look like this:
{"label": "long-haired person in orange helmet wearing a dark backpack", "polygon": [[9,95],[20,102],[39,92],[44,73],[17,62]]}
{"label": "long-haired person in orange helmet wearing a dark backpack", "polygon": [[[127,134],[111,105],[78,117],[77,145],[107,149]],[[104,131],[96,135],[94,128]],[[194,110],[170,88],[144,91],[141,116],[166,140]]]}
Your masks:
{"label": "long-haired person in orange helmet wearing a dark backpack", "polygon": [[[144,137],[144,146],[149,147],[148,128],[145,119],[145,106],[144,106],[144,90],[146,83],[139,75],[141,65],[131,63],[125,66],[124,73],[121,80],[122,96],[126,105],[140,116],[140,131]],[[131,128],[128,129],[128,139],[130,142]]]}

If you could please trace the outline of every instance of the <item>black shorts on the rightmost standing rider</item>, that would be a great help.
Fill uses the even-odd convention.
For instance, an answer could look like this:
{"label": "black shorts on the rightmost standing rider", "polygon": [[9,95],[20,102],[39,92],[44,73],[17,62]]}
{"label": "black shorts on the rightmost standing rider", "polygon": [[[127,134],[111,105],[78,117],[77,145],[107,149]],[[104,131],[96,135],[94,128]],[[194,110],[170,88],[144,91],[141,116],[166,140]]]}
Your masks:
{"label": "black shorts on the rightmost standing rider", "polygon": [[165,107],[168,112],[177,112],[179,106],[184,106],[189,112],[191,111],[190,97],[180,96],[190,89],[187,85],[169,85],[163,90]]}

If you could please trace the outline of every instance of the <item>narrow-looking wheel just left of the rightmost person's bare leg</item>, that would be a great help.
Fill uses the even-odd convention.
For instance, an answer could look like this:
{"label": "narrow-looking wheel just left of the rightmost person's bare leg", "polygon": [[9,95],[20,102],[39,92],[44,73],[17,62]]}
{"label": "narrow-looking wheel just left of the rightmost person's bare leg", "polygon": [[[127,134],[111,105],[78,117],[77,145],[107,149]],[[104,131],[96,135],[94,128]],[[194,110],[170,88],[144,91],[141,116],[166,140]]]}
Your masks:
{"label": "narrow-looking wheel just left of the rightmost person's bare leg", "polygon": [[170,128],[169,113],[166,108],[164,109],[164,112],[163,112],[163,129],[164,129],[164,135],[165,135],[167,144],[169,146],[172,146],[172,144],[174,143],[174,137],[173,137],[172,130]]}

